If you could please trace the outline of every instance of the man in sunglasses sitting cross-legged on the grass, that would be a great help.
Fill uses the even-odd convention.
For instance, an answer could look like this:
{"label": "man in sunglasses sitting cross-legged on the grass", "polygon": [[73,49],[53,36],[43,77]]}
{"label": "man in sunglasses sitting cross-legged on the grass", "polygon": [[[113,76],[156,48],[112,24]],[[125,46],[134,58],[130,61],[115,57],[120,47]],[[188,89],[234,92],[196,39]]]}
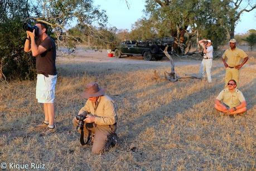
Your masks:
{"label": "man in sunglasses sitting cross-legged on the grass", "polygon": [[228,81],[228,89],[221,91],[214,102],[216,110],[230,115],[242,114],[247,111],[244,95],[236,89],[235,80]]}

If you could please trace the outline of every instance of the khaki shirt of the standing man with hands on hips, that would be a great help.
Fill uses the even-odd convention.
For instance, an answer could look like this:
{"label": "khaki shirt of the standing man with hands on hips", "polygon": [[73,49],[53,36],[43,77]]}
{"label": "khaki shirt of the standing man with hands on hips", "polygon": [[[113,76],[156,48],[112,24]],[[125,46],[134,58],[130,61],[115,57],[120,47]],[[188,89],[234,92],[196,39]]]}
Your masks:
{"label": "khaki shirt of the standing man with hands on hips", "polygon": [[240,48],[235,48],[231,50],[231,48],[227,49],[222,56],[224,59],[227,58],[226,63],[230,67],[235,67],[240,65],[240,60],[247,57],[247,54],[241,50]]}

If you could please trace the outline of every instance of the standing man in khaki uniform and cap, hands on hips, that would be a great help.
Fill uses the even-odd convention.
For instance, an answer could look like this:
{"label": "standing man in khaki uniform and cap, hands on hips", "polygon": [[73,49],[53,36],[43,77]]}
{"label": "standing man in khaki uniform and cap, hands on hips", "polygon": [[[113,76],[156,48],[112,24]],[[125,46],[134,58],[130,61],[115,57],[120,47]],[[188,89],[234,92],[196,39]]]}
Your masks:
{"label": "standing man in khaki uniform and cap, hands on hips", "polygon": [[[222,56],[226,68],[225,86],[232,79],[239,85],[239,70],[247,62],[248,56],[243,50],[236,47],[236,40],[234,38],[229,41],[229,47]],[[240,63],[241,59],[243,61]]]}

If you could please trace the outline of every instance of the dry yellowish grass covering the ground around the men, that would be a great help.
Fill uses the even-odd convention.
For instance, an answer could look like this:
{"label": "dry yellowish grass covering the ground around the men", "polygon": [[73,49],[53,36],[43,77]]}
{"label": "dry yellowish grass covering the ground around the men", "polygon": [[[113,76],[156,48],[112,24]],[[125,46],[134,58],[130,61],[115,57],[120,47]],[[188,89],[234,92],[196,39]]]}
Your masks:
{"label": "dry yellowish grass covering the ground around the men", "polygon": [[[254,53],[255,54],[255,53]],[[224,86],[224,69],[214,61],[214,84],[152,80],[169,71],[145,65],[104,62],[57,63],[57,133],[42,136],[33,126],[43,119],[35,99],[36,81],[1,84],[0,162],[45,164],[47,170],[254,170],[256,168],[256,67],[241,70],[240,90],[248,101],[243,116],[223,116],[213,100]],[[162,64],[161,64],[162,65]],[[177,66],[179,75],[196,74],[198,65]],[[84,85],[97,81],[118,106],[120,144],[92,155],[79,143],[71,119],[84,105]]]}

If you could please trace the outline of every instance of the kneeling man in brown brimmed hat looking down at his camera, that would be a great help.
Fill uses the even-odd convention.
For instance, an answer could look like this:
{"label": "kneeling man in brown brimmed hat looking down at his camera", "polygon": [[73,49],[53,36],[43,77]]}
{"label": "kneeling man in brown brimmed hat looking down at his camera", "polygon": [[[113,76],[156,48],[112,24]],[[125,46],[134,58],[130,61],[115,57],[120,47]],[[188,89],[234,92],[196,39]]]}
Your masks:
{"label": "kneeling man in brown brimmed hat looking down at his camera", "polygon": [[[84,133],[81,134],[80,141],[81,139],[84,141],[83,136],[88,138],[89,141],[90,134],[94,134],[94,136],[91,136],[91,143],[93,143],[91,152],[102,154],[111,146],[117,145],[117,134],[115,133],[117,129],[117,111],[113,100],[104,95],[104,90],[100,89],[96,82],[91,82],[85,86],[83,96],[88,100],[85,106],[80,109],[79,116],[73,119],[73,124],[77,126],[80,134]],[[81,115],[86,119],[80,117]],[[82,120],[77,120],[80,118]],[[81,144],[85,145],[86,143],[81,142]]]}

